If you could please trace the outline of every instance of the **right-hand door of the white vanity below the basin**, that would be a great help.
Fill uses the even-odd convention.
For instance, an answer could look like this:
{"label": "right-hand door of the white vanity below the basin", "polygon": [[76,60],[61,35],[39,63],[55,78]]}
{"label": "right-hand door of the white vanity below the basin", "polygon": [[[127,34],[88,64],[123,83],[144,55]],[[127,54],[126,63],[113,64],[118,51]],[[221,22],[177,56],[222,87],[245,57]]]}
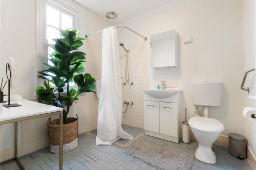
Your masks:
{"label": "right-hand door of the white vanity below the basin", "polygon": [[178,136],[178,111],[176,103],[160,102],[160,133]]}

